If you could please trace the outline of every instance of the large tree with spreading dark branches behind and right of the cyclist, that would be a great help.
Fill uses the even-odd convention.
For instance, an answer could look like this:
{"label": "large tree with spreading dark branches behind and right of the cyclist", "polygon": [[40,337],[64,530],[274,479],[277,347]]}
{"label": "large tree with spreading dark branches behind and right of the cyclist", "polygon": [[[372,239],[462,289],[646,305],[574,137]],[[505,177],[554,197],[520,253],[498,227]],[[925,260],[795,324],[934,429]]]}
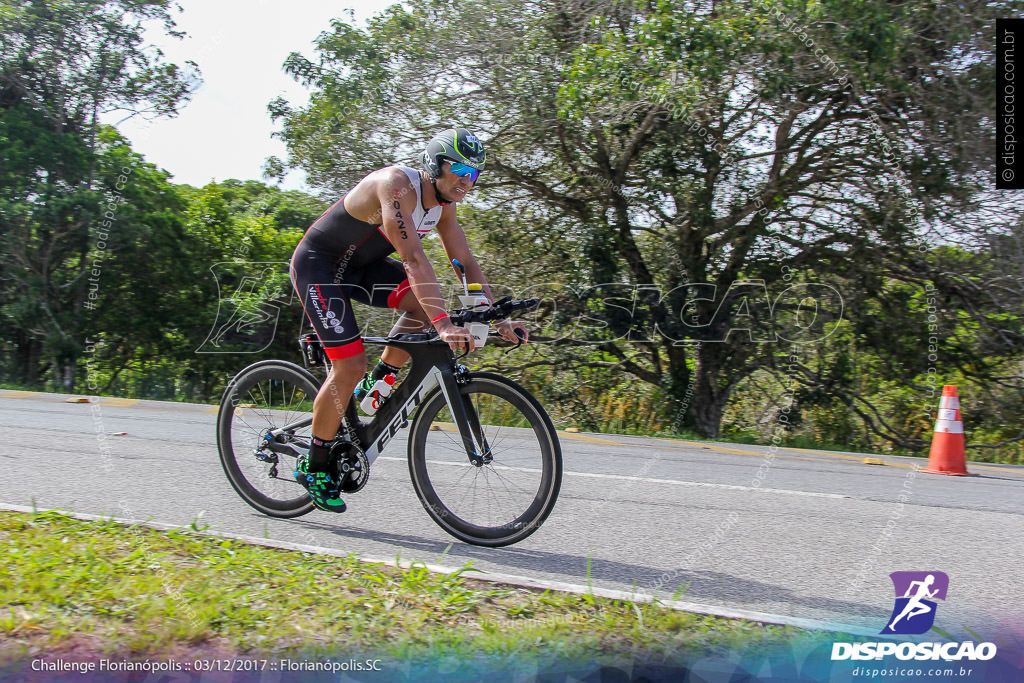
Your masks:
{"label": "large tree with spreading dark branches behind and right of the cyclist", "polygon": [[433,0],[335,22],[316,61],[286,65],[311,103],[271,112],[290,163],[335,194],[442,127],[483,133],[481,223],[532,219],[505,219],[503,265],[560,271],[567,318],[607,323],[555,335],[549,361],[664,387],[717,436],[753,373],[820,384],[795,342],[860,314],[829,292],[942,282],[919,247],[986,188],[990,26],[1014,6]]}

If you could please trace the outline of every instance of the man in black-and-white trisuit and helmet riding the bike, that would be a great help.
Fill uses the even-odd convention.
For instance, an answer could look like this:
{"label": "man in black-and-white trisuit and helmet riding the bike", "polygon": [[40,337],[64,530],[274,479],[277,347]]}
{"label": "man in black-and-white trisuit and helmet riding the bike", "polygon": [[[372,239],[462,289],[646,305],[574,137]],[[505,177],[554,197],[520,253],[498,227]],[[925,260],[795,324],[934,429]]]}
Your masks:
{"label": "man in black-and-white trisuit and helmet riding the bike", "polygon": [[[463,263],[468,280],[480,283],[494,301],[456,218],[456,204],[473,188],[484,158],[483,145],[468,130],[445,130],[423,152],[423,170],[391,166],[374,171],[324,212],[295,249],[292,284],[331,360],[331,372],[313,400],[309,455],[298,459],[295,472],[321,510],[345,511],[339,482],[328,472],[329,455],[356,385],[366,391],[409,360],[404,351],[387,347],[360,383],[367,356],[351,302],[400,310],[392,335],[432,325],[453,350],[471,348],[466,329],[447,317],[440,287],[420,244],[431,229],[437,230],[449,261]],[[389,257],[395,251],[400,262]],[[518,339],[517,331],[524,340],[528,336],[513,321],[496,328],[509,341]]]}

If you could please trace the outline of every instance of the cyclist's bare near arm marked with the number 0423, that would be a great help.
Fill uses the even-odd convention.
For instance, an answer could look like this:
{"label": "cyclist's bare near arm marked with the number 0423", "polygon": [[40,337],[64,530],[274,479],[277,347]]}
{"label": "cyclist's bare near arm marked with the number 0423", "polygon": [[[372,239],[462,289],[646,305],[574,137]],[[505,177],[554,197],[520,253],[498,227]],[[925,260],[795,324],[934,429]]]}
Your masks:
{"label": "cyclist's bare near arm marked with the number 0423", "polygon": [[[401,171],[395,171],[381,183],[378,193],[381,201],[381,229],[401,257],[413,294],[423,306],[427,319],[436,321],[433,323],[434,328],[440,332],[447,322],[444,317],[447,310],[444,308],[444,298],[437,285],[434,268],[416,234],[413,210],[417,199],[416,193],[410,191],[411,187],[409,178]],[[447,324],[451,325],[450,322]]]}

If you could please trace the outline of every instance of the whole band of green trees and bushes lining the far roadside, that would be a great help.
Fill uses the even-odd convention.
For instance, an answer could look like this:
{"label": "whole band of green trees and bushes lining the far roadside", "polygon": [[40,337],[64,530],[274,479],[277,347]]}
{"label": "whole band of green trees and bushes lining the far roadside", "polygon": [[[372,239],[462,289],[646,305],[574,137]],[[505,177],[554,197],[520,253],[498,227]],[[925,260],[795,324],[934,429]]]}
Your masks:
{"label": "whole band of green trees and bushes lining the far roadside", "polygon": [[[270,103],[267,171],[333,200],[442,127],[481,133],[460,220],[496,291],[543,304],[538,343],[474,360],[562,426],[765,438],[788,407],[788,437],[920,453],[950,383],[972,455],[1019,459],[1024,205],[991,187],[987,120],[991,19],[1022,6],[394,5],[288,58],[311,98]],[[284,263],[325,202],[173,185],[98,124],[187,100],[194,66],[141,39],[169,7],[3,5],[5,381],[209,400],[295,358]]]}

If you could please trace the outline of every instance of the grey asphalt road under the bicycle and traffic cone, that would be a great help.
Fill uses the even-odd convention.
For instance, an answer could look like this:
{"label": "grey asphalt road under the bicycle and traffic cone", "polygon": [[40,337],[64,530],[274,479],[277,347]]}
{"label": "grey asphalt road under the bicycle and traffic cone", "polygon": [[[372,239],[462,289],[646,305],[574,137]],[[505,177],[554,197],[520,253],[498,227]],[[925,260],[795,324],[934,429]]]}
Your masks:
{"label": "grey asphalt road under the bicycle and traffic cone", "polygon": [[[263,516],[228,484],[216,408],[0,391],[0,503],[109,514],[671,596],[880,631],[888,574],[941,570],[936,626],[982,636],[1024,620],[1024,467],[918,473],[910,458],[560,432],[565,477],[537,533],[504,549],[455,542],[409,481],[404,431],[348,512]],[[115,436],[117,432],[126,435]],[[98,437],[101,433],[104,436]],[[109,447],[103,447],[106,444]],[[900,496],[904,502],[900,502]],[[451,545],[451,547],[450,547]],[[446,553],[445,553],[446,551]]]}

